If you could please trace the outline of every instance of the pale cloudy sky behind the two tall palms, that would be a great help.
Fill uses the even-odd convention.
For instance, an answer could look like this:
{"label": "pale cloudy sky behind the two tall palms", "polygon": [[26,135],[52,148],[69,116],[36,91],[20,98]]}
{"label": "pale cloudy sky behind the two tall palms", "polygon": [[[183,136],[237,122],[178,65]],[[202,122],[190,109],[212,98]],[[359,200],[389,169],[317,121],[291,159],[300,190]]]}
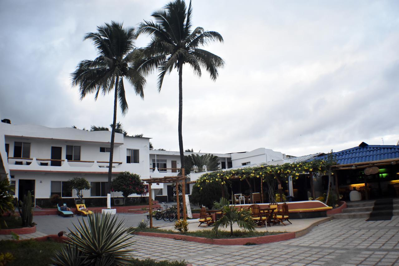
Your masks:
{"label": "pale cloudy sky behind the two tall palms", "polygon": [[[70,73],[97,52],[87,32],[116,20],[136,27],[166,1],[0,1],[0,113],[14,124],[109,125],[113,95],[79,100]],[[225,42],[213,82],[183,69],[183,143],[230,153],[266,147],[290,155],[399,140],[398,1],[193,1],[193,25]],[[140,36],[137,46],[148,37]],[[128,83],[126,82],[125,85]],[[178,150],[178,75],[144,101],[128,87],[129,134]]]}

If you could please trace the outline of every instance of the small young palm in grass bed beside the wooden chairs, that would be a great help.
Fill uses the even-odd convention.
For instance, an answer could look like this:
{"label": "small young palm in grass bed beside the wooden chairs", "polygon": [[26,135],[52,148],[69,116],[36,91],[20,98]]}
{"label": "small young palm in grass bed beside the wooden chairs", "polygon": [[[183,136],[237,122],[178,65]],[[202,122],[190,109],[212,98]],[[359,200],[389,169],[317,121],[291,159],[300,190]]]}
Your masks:
{"label": "small young palm in grass bed beside the wooden chairs", "polygon": [[235,205],[230,205],[229,200],[221,198],[219,202],[213,202],[215,209],[222,211],[223,216],[217,220],[212,228],[213,235],[217,236],[219,227],[228,228],[230,226],[230,235],[233,235],[233,224],[237,223],[240,228],[254,232],[255,222],[251,218],[251,212],[247,208],[238,209]]}

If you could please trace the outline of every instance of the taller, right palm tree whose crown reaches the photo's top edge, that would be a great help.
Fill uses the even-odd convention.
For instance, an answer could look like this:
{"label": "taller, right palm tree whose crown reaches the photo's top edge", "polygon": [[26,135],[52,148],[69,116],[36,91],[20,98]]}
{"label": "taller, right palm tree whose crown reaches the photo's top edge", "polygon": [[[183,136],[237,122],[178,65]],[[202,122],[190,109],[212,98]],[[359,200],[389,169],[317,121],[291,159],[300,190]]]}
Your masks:
{"label": "taller, right palm tree whose crown reaches the photo's top edge", "polygon": [[199,46],[211,41],[223,42],[222,36],[217,32],[204,31],[197,27],[191,30],[192,7],[191,0],[186,8],[183,0],[174,0],[155,11],[151,15],[155,22],[140,23],[137,34],[149,34],[152,38],[146,49],[146,57],[137,65],[140,71],[148,74],[158,69],[158,91],[161,90],[165,74],[177,69],[179,73],[179,150],[180,161],[184,168],[183,137],[182,137],[182,75],[183,65],[189,64],[196,75],[201,76],[201,67],[204,67],[212,80],[218,76],[218,68],[223,67],[224,61],[219,56]]}

